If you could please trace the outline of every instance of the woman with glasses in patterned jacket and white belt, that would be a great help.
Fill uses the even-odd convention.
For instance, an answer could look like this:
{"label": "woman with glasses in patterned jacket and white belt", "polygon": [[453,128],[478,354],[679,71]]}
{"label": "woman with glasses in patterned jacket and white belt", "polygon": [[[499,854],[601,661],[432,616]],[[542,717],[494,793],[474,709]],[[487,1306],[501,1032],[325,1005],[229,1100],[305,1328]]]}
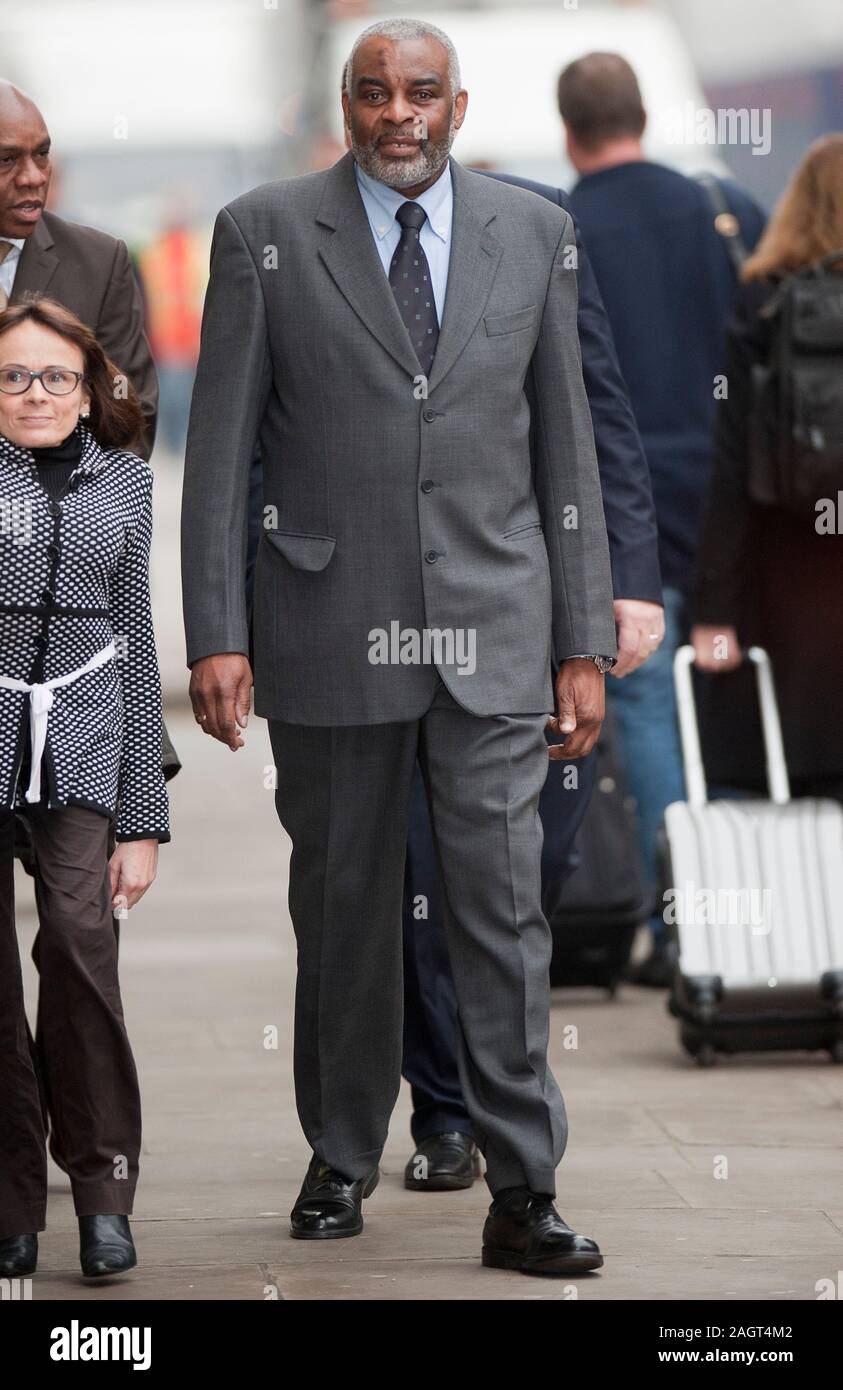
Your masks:
{"label": "woman with glasses in patterned jacket and white belt", "polygon": [[[42,1090],[82,1272],[136,1264],[140,1098],[113,913],[170,840],[140,428],[134,389],[74,314],[45,297],[0,313],[0,1276],[36,1266]],[[21,812],[39,863],[38,1063],[14,924]]]}

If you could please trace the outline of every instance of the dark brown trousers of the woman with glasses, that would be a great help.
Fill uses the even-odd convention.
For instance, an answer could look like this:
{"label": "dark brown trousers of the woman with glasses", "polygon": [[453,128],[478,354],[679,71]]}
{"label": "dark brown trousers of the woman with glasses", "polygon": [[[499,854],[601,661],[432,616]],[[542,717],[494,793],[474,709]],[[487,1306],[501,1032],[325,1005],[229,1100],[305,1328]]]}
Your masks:
{"label": "dark brown trousers of the woman with glasses", "polygon": [[14,912],[14,815],[0,812],[0,1240],[43,1230],[46,1118],[78,1216],[132,1211],[140,1095],[122,1016],[107,816],[26,810],[39,916],[38,1044],[24,1011]]}

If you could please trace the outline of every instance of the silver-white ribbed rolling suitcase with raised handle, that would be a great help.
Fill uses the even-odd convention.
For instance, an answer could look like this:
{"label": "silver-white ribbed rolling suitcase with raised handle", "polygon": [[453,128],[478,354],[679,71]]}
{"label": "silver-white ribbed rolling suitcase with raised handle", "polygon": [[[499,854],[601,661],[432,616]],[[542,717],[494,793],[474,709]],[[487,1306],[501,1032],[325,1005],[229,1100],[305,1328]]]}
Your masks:
{"label": "silver-white ribbed rolling suitcase with raised handle", "polygon": [[702,1066],[718,1052],[785,1048],[828,1048],[842,1062],[843,806],[790,799],[769,657],[758,646],[747,656],[768,801],[707,799],[693,648],[673,664],[689,799],[665,810],[662,910],[679,947],[669,1009]]}

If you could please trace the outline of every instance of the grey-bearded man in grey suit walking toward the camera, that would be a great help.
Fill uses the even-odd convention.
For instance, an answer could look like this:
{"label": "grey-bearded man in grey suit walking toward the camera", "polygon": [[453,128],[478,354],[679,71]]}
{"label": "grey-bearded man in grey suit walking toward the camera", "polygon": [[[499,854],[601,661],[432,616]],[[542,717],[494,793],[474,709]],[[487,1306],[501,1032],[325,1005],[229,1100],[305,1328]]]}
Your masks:
{"label": "grey-bearded man in grey suit walking toward the camera", "polygon": [[[299,1238],[362,1230],[401,1077],[416,756],[448,905],[487,1265],[595,1269],[554,1207],[538,795],[615,659],[570,217],[449,157],[467,96],[433,25],[373,25],[331,170],[220,213],[191,409],[182,581],[196,719],[242,746],[249,470],[264,470],[255,709],[292,840]],[[554,713],[556,708],[556,713]]]}

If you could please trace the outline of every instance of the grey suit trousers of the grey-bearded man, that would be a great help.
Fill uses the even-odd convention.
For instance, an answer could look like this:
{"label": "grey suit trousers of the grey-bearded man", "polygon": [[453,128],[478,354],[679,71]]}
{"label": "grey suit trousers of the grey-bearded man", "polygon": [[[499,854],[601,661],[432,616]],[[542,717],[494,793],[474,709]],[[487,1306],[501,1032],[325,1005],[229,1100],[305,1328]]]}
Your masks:
{"label": "grey suit trousers of the grey-bearded man", "polygon": [[292,840],[296,1106],[313,1151],[349,1179],[378,1162],[401,1083],[403,862],[419,756],[445,891],[459,1074],[487,1183],[492,1194],[522,1183],[555,1193],[568,1120],[547,1063],[545,723],[547,713],[472,714],[441,680],[419,720],[270,720],[275,805]]}

